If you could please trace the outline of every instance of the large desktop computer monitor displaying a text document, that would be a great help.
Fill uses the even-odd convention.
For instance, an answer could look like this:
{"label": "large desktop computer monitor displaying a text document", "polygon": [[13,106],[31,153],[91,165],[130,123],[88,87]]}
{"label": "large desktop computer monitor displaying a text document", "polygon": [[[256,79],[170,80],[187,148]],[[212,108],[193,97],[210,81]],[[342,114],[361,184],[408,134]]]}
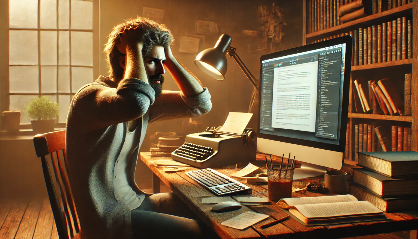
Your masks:
{"label": "large desktop computer monitor displaying a text document", "polygon": [[342,168],[351,58],[349,35],[260,58],[257,151],[291,152],[294,180]]}

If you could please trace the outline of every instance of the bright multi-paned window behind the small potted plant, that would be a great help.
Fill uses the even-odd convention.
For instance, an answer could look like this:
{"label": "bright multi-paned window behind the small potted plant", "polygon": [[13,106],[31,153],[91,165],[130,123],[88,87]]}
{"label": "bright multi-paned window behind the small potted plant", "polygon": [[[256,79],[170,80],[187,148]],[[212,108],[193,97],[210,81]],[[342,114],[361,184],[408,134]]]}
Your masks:
{"label": "bright multi-paned window behind the small potted plant", "polygon": [[93,82],[92,0],[9,0],[9,108],[47,96],[65,123],[74,94]]}

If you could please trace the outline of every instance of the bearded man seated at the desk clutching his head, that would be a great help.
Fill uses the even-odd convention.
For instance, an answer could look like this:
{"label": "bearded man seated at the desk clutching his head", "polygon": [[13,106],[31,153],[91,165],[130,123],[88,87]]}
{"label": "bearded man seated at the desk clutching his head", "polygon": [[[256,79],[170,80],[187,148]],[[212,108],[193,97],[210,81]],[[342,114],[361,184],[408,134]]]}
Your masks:
{"label": "bearded man seated at the desk clutching his head", "polygon": [[[76,237],[216,238],[173,193],[147,194],[134,179],[147,125],[209,112],[209,91],[174,58],[164,25],[131,19],[108,38],[109,77],[79,89],[67,117],[69,181],[81,225]],[[162,91],[164,65],[181,91]]]}

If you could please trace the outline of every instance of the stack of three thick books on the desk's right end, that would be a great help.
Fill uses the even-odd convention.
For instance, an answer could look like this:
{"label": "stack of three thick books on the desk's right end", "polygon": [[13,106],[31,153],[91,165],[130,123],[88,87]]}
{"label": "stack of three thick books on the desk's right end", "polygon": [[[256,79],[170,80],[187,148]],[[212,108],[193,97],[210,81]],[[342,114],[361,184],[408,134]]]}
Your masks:
{"label": "stack of three thick books on the desk's right end", "polygon": [[382,211],[418,208],[418,152],[358,152],[350,194]]}

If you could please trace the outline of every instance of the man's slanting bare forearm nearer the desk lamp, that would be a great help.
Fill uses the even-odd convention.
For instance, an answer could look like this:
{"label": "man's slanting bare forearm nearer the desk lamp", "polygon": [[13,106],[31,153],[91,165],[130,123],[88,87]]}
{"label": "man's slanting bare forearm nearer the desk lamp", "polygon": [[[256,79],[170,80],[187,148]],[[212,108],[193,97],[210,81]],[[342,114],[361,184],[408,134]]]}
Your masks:
{"label": "man's slanting bare forearm nearer the desk lamp", "polygon": [[172,57],[170,60],[167,59],[165,65],[185,96],[196,96],[204,91],[200,82],[178,63],[176,58]]}

